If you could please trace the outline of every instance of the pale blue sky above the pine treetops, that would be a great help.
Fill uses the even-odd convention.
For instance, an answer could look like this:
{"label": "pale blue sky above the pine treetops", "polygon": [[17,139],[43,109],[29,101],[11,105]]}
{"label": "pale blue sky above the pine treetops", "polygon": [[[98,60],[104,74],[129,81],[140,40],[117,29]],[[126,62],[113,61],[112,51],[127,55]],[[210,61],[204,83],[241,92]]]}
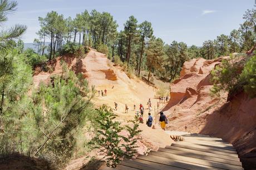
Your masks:
{"label": "pale blue sky above the pine treetops", "polygon": [[109,12],[123,29],[127,18],[134,15],[139,22],[152,23],[154,35],[166,43],[183,41],[189,46],[229,34],[243,22],[243,14],[254,7],[255,0],[18,0],[18,9],[9,14],[4,26],[25,24],[24,42],[33,42],[40,29],[38,17],[57,11],[75,17],[85,9]]}

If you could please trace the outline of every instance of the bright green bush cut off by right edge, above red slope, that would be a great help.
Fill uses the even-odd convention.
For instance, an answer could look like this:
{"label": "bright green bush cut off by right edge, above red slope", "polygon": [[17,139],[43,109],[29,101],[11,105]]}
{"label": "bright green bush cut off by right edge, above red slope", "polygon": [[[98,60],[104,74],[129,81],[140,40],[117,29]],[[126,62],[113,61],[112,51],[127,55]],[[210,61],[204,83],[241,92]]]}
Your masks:
{"label": "bright green bush cut off by right edge, above red slope", "polygon": [[245,82],[244,91],[250,97],[256,97],[256,56],[250,58],[245,64],[241,79]]}

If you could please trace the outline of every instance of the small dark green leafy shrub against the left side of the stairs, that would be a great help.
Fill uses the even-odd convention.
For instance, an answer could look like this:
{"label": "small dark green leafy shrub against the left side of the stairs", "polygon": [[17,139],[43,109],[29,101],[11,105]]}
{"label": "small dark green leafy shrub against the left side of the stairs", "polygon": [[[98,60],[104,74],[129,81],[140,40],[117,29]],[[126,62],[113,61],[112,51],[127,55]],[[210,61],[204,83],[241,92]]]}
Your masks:
{"label": "small dark green leafy shrub against the left side of the stairs", "polygon": [[[141,132],[137,118],[130,121],[133,126],[122,127],[120,122],[115,121],[116,115],[106,105],[96,109],[98,117],[95,119],[95,137],[90,144],[92,148],[106,152],[107,166],[115,168],[122,159],[130,159],[136,153],[136,142]],[[128,136],[121,136],[121,131],[127,131]]]}

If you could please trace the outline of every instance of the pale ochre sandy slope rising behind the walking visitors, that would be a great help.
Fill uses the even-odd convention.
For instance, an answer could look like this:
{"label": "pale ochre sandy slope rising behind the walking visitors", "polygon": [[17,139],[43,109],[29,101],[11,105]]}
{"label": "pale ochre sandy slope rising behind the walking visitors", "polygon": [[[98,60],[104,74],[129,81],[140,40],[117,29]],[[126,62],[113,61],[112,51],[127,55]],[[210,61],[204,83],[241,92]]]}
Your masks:
{"label": "pale ochre sandy slope rising behind the walking visitors", "polygon": [[[147,117],[149,109],[147,101],[151,99],[152,108],[156,107],[158,99],[155,98],[156,89],[148,86],[146,83],[137,78],[130,79],[120,67],[113,66],[113,63],[105,57],[104,54],[90,51],[83,59],[86,68],[86,77],[90,85],[94,85],[97,91],[107,89],[107,96],[100,96],[96,93],[96,98],[93,100],[96,106],[107,104],[115,108],[114,102],[117,102],[117,111],[120,119],[127,120],[135,116],[134,104],[136,110],[139,111],[141,103],[145,108],[144,117]],[[111,75],[109,75],[111,74]],[[112,80],[116,77],[116,80]],[[115,78],[114,78],[115,79]],[[114,88],[112,88],[114,86]],[[125,113],[125,104],[129,107],[129,113]],[[154,116],[154,111],[151,112]]]}

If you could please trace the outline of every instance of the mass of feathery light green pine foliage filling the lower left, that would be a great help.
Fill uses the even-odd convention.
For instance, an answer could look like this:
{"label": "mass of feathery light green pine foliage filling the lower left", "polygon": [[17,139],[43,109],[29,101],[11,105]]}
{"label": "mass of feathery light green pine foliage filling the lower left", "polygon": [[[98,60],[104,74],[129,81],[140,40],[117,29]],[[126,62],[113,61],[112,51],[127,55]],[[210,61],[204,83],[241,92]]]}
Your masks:
{"label": "mass of feathery light green pine foliage filling the lower left", "polygon": [[[7,56],[5,61],[8,58],[16,59]],[[66,163],[79,147],[77,144],[81,144],[77,132],[85,128],[88,114],[93,113],[90,101],[94,89],[89,91],[87,81],[80,75],[76,77],[64,65],[61,76],[53,77],[49,86],[41,84],[28,97],[31,67],[22,58],[18,62],[14,59],[6,68],[12,71],[5,74],[8,79],[0,78],[4,92],[0,154],[19,152],[55,164]]]}

